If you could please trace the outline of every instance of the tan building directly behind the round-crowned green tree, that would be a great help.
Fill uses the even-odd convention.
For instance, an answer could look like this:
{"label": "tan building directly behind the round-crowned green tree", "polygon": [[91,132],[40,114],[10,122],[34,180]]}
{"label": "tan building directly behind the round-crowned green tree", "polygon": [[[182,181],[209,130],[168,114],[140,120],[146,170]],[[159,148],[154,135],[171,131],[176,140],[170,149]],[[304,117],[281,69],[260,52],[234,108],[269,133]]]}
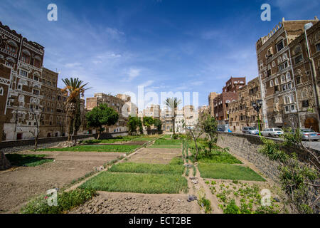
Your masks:
{"label": "tan building directly behind the round-crowned green tree", "polygon": [[122,115],[124,100],[114,95],[95,93],[93,98],[87,98],[87,110],[92,110],[102,103],[107,104],[108,107],[113,108],[117,113],[119,113],[118,123],[113,126],[106,127],[106,132],[114,133],[127,131],[127,118]]}

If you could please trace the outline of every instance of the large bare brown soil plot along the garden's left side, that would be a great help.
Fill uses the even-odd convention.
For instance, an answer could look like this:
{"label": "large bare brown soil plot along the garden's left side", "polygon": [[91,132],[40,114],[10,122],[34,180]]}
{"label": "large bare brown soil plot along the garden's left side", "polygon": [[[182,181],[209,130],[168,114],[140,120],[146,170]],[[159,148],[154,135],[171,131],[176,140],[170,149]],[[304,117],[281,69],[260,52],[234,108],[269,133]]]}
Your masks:
{"label": "large bare brown soil plot along the garden's left side", "polygon": [[[35,152],[21,152],[35,154]],[[47,190],[62,188],[83,177],[110,160],[124,155],[119,152],[38,152],[55,162],[37,167],[15,167],[0,171],[0,213],[18,212],[21,204],[45,194]]]}

